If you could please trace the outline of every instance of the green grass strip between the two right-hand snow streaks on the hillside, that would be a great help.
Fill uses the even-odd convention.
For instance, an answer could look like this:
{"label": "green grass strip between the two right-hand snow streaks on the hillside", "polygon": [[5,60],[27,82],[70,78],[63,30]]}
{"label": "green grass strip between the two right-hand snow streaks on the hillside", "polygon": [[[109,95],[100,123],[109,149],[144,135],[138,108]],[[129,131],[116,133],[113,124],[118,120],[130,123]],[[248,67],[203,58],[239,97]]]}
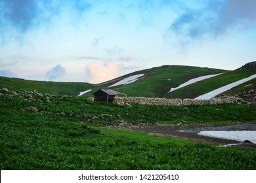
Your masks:
{"label": "green grass strip between the two right-hand snow streaks on the hillside", "polygon": [[251,75],[255,75],[255,73],[256,67],[241,67],[240,69],[236,69],[235,71],[229,71],[227,73],[224,73],[223,75],[215,76],[207,80],[202,80],[201,82],[196,82],[179,90],[175,90],[174,92],[165,95],[165,97],[181,99],[195,98],[199,95],[211,92],[212,90],[215,90],[232,82],[236,82],[237,80],[241,80]]}

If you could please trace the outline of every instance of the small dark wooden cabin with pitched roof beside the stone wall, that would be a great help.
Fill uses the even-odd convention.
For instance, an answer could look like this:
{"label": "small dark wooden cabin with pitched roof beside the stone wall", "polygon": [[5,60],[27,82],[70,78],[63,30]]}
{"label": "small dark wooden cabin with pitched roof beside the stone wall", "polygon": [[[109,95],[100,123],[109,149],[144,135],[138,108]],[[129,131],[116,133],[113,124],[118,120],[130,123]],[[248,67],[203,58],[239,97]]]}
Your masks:
{"label": "small dark wooden cabin with pitched roof beside the stone wall", "polygon": [[118,92],[114,90],[98,90],[97,92],[93,93],[95,96],[95,101],[100,101],[100,102],[107,102],[107,103],[112,103],[114,100],[114,97],[119,94]]}

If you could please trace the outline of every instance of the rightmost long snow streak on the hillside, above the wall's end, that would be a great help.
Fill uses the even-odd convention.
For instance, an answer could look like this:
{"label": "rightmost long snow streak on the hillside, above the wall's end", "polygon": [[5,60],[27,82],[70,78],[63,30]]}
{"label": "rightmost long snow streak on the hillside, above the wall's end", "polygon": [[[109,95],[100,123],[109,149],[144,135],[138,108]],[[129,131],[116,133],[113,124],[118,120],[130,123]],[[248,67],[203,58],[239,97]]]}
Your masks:
{"label": "rightmost long snow streak on the hillside, above the wall's end", "polygon": [[231,88],[234,88],[235,86],[238,86],[240,84],[243,84],[244,82],[247,82],[249,80],[252,80],[253,78],[256,78],[256,75],[249,76],[248,78],[244,78],[242,80],[238,80],[236,82],[232,82],[226,86],[223,86],[221,88],[218,88],[216,90],[213,90],[209,93],[205,93],[203,95],[200,95],[199,97],[196,97],[195,99],[211,99],[212,97],[215,97],[216,95],[219,95],[223,92],[226,92],[227,90],[230,90]]}

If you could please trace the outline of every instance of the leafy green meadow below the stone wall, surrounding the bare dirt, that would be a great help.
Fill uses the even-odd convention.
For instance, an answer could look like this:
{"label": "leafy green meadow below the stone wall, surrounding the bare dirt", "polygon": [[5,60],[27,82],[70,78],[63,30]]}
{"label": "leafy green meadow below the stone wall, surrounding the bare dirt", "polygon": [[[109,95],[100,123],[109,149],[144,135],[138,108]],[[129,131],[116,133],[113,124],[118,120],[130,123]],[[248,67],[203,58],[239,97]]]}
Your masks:
{"label": "leafy green meadow below the stone wall, surrounding the bare dirt", "polygon": [[[0,96],[0,169],[256,169],[255,151],[99,127],[118,120],[255,122],[254,105],[129,107],[73,97],[52,97],[50,103],[33,98],[37,101]],[[30,106],[38,112],[26,109]],[[99,114],[112,116],[91,118]]]}

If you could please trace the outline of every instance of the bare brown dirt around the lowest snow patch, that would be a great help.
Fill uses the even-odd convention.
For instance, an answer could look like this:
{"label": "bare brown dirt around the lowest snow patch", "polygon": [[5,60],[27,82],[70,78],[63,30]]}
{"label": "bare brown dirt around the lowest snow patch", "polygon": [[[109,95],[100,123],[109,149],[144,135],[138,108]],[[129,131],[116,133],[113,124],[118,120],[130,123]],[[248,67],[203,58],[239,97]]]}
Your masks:
{"label": "bare brown dirt around the lowest snow patch", "polygon": [[219,139],[214,137],[205,137],[198,135],[200,131],[241,131],[241,130],[256,130],[256,124],[237,124],[237,125],[222,125],[222,126],[133,126],[129,127],[133,131],[144,131],[150,135],[158,135],[161,137],[172,137],[175,139],[185,139],[193,142],[205,142],[216,146],[226,144],[237,144],[234,147],[243,147],[256,150],[256,144],[250,142],[238,142],[227,139]]}

